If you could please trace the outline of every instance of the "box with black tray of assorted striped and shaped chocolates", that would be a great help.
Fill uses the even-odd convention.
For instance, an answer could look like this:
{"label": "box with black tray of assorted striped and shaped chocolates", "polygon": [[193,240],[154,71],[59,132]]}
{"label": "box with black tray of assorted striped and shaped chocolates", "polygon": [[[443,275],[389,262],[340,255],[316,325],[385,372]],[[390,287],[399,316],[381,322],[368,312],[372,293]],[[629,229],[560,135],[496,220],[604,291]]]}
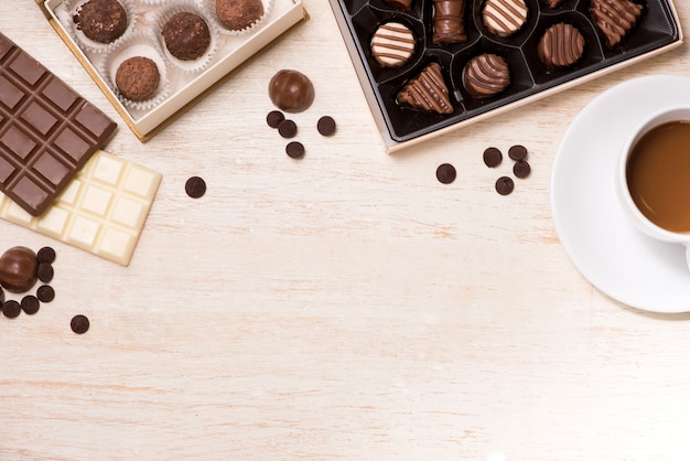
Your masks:
{"label": "box with black tray of assorted striped and shaped chocolates", "polygon": [[330,0],[389,152],[682,43],[670,0]]}

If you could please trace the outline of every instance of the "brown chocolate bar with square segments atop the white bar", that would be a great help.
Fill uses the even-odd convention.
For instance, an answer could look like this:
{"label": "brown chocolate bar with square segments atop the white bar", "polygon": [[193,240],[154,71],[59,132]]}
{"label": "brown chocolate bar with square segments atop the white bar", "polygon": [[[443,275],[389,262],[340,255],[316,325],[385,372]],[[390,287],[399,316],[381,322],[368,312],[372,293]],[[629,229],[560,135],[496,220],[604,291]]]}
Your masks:
{"label": "brown chocolate bar with square segments atop the white bar", "polygon": [[0,191],[40,215],[116,124],[0,33]]}

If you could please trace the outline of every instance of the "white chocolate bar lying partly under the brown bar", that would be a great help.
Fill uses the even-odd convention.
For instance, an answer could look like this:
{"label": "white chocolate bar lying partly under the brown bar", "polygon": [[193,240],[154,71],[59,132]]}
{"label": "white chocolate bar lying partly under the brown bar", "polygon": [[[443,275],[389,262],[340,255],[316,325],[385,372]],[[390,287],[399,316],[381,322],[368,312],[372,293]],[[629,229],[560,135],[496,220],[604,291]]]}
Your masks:
{"label": "white chocolate bar lying partly under the brown bar", "polygon": [[98,150],[41,216],[0,194],[0,218],[127,266],[161,180]]}

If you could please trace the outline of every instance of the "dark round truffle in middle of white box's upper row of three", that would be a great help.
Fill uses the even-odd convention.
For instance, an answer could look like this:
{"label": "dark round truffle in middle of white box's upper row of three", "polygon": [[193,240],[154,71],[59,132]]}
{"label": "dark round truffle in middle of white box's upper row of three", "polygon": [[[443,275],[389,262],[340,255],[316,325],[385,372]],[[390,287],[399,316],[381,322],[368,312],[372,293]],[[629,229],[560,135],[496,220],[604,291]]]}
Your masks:
{"label": "dark round truffle in middle of white box's upper row of three", "polygon": [[194,61],[204,55],[211,45],[208,24],[198,14],[173,14],[162,30],[165,47],[177,60]]}

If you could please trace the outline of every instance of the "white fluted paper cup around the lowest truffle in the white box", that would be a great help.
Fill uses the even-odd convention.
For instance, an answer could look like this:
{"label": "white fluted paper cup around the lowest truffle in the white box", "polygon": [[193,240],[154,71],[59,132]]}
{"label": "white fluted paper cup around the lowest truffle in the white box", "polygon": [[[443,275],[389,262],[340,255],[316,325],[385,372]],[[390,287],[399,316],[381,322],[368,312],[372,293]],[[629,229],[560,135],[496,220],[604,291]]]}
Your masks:
{"label": "white fluted paper cup around the lowest truffle in the white box", "polygon": [[[130,57],[143,56],[152,60],[158,66],[161,74],[161,82],[158,90],[147,100],[131,100],[125,97],[117,87],[115,76],[117,69]],[[170,79],[169,71],[163,54],[161,53],[158,42],[153,35],[142,31],[132,33],[126,41],[119,43],[119,45],[112,49],[107,58],[103,62],[99,69],[104,81],[108,84],[110,89],[117,95],[120,103],[125,106],[137,110],[149,110],[161,104],[170,95]]]}

